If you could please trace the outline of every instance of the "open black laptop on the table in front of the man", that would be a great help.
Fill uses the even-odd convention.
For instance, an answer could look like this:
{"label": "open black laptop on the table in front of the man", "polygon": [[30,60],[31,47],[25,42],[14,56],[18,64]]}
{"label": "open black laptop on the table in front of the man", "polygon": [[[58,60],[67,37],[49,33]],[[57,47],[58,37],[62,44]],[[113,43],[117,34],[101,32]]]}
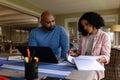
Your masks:
{"label": "open black laptop on the table in front of the man", "polygon": [[27,57],[27,48],[29,48],[30,56],[38,57],[39,62],[58,63],[58,60],[50,47],[17,46],[16,48],[24,57]]}

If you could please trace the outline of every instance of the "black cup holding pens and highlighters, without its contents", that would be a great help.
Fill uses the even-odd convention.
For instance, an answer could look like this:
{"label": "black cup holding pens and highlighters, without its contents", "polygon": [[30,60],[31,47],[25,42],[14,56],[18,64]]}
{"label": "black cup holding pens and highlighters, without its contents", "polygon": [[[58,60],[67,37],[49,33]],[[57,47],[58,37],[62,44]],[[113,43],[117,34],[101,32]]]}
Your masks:
{"label": "black cup holding pens and highlighters, without its contents", "polygon": [[38,62],[25,62],[25,79],[34,80],[38,78]]}

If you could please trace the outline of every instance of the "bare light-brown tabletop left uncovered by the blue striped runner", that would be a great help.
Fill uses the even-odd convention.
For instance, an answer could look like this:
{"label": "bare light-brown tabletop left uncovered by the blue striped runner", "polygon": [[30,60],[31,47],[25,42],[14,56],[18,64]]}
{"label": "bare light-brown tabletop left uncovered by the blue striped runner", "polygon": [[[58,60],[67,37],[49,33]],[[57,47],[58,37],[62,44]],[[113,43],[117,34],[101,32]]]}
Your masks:
{"label": "bare light-brown tabletop left uncovered by the blue striped runner", "polygon": [[[22,78],[22,79],[24,78],[24,73],[10,71],[10,70],[0,70],[0,75],[11,76],[11,77],[15,77],[15,78]],[[78,70],[74,70],[73,72],[71,72],[66,77],[66,79],[70,79],[70,80],[93,80],[95,75],[96,75],[95,71],[78,71]],[[39,79],[41,79],[42,77],[44,77],[44,76],[39,75]]]}

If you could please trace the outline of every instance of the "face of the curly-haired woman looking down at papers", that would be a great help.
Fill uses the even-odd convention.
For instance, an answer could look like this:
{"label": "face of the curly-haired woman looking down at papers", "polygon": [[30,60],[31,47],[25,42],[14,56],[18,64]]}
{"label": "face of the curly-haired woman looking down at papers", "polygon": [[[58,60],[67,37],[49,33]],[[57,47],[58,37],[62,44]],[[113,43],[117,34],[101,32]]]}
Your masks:
{"label": "face of the curly-haired woman looking down at papers", "polygon": [[81,20],[81,24],[83,28],[88,32],[88,34],[94,34],[95,30],[97,30],[93,25],[89,24],[87,20]]}

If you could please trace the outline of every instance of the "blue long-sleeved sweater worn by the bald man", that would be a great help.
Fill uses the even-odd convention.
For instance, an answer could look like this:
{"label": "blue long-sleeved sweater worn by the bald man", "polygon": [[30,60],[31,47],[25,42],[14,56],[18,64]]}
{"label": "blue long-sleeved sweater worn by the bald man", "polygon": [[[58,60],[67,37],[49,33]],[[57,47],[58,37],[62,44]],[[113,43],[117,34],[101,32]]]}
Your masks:
{"label": "blue long-sleeved sweater worn by the bald man", "polygon": [[29,46],[50,47],[58,59],[66,58],[66,53],[69,50],[69,37],[62,26],[55,26],[49,32],[45,32],[42,27],[38,27],[30,32]]}

